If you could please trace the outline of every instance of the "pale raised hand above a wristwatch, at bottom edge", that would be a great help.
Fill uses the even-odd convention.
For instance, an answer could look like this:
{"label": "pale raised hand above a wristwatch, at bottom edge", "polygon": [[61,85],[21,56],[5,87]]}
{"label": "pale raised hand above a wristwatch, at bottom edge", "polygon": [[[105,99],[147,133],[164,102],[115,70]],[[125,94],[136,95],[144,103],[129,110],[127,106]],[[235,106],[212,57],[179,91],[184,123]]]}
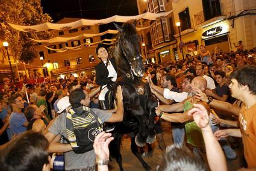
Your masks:
{"label": "pale raised hand above a wristwatch, at bottom edge", "polygon": [[93,149],[98,160],[108,160],[110,156],[108,145],[112,140],[114,140],[114,137],[111,137],[111,133],[106,132],[101,132],[95,137]]}

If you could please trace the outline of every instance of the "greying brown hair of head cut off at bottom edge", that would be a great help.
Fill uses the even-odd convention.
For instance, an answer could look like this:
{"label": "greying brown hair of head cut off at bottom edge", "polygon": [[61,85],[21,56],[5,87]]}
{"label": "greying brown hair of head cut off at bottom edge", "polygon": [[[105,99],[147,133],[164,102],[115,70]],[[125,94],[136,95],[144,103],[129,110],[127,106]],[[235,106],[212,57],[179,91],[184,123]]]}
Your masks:
{"label": "greying brown hair of head cut off at bottom edge", "polygon": [[195,155],[186,146],[172,145],[166,148],[166,157],[163,160],[163,164],[157,167],[157,170],[206,171],[207,166],[200,158],[195,157]]}

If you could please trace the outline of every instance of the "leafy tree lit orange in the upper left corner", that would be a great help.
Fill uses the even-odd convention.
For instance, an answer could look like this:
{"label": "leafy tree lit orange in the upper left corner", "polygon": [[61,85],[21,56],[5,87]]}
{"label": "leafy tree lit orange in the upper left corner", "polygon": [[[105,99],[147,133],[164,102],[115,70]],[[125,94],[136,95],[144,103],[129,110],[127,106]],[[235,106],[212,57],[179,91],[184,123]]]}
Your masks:
{"label": "leafy tree lit orange in the upper left corner", "polygon": [[44,22],[52,22],[48,14],[43,14],[40,0],[8,0],[0,1],[0,30],[5,33],[5,40],[9,42],[11,55],[14,61],[21,60],[26,63],[39,57],[39,43],[32,39],[49,39],[51,33],[48,31],[40,33],[25,33],[14,30],[7,22],[17,25],[38,25]]}

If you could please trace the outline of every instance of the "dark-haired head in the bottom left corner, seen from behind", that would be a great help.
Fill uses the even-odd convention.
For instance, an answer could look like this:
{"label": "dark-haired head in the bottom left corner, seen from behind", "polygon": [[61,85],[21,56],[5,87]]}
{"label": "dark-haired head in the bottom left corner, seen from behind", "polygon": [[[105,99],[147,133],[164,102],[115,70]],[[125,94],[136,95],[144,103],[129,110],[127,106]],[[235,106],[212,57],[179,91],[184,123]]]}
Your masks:
{"label": "dark-haired head in the bottom left corner, seen from behind", "polygon": [[0,151],[0,170],[43,170],[48,164],[48,140],[40,132],[27,131]]}

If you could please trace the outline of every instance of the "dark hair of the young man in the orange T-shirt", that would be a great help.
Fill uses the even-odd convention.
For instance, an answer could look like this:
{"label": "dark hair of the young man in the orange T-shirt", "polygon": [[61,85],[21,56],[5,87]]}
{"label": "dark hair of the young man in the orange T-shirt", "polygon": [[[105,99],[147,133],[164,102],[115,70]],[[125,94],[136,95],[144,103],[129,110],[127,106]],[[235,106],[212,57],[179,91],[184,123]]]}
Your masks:
{"label": "dark hair of the young man in the orange T-shirt", "polygon": [[231,73],[230,79],[236,79],[239,85],[247,85],[252,95],[256,95],[256,66],[246,66]]}

